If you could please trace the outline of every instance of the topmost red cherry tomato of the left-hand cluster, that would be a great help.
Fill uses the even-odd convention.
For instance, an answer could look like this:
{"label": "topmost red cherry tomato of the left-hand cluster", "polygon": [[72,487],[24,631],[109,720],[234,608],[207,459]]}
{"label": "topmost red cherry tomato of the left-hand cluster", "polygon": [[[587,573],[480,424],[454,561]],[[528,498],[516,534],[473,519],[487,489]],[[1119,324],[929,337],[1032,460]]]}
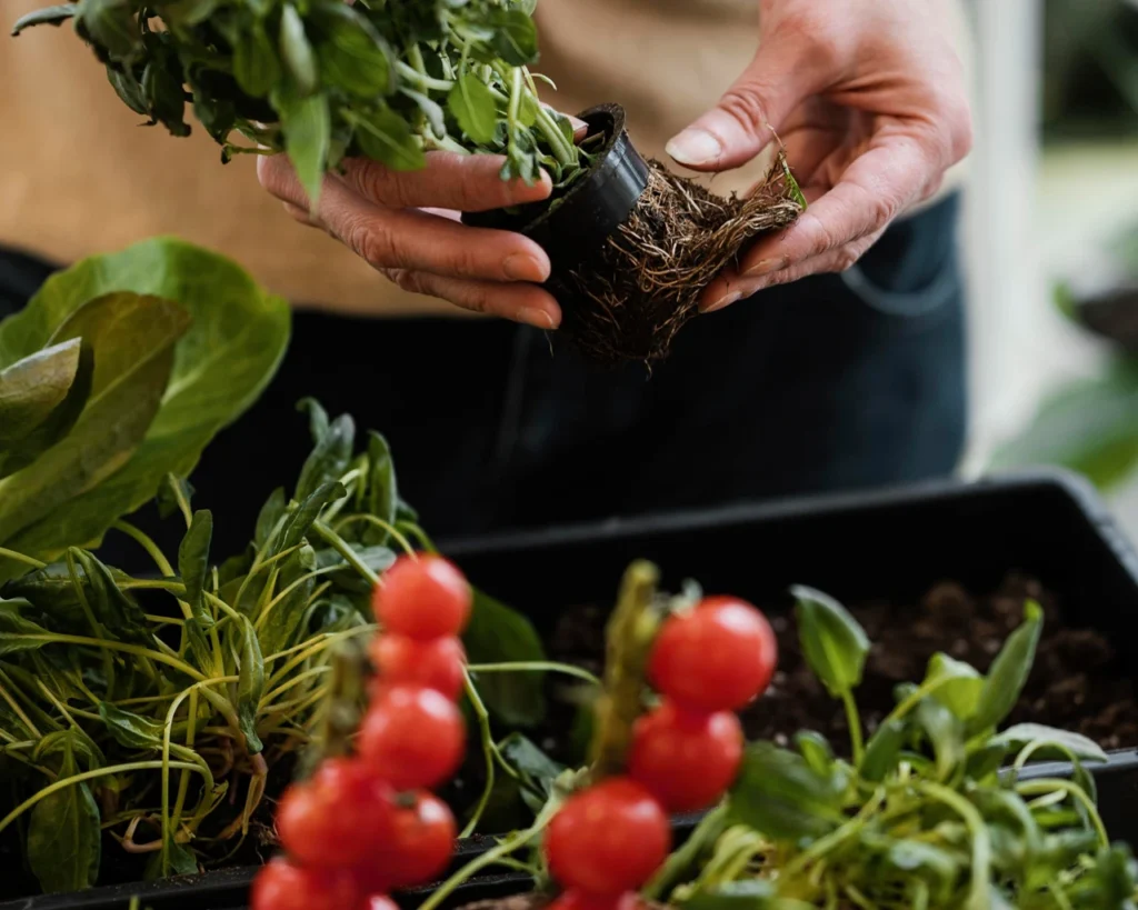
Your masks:
{"label": "topmost red cherry tomato of the left-hand cluster", "polygon": [[453,563],[432,554],[401,556],[372,595],[387,631],[429,640],[459,635],[470,618],[470,585]]}

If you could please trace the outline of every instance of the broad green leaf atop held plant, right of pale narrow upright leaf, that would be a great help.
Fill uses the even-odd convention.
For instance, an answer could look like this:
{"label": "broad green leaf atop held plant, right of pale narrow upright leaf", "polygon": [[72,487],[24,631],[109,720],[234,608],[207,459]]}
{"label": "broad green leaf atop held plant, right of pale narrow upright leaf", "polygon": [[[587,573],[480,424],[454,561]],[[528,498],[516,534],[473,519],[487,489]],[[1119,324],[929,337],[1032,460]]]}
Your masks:
{"label": "broad green leaf atop held plant, right of pale narrow upright leaf", "polygon": [[395,84],[395,55],[376,27],[355,9],[330,3],[316,10],[316,46],[325,84],[360,98],[386,94]]}

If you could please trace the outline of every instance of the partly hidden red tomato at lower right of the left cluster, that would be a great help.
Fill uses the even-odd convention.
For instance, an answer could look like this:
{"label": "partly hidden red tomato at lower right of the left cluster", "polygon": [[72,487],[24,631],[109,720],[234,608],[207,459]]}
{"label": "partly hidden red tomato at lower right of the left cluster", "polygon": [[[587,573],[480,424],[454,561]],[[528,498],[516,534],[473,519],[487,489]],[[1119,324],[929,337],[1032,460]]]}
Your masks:
{"label": "partly hidden red tomato at lower right of the left cluster", "polygon": [[446,869],[459,836],[450,806],[429,793],[419,793],[395,812],[391,836],[356,879],[376,891],[406,888],[431,882]]}

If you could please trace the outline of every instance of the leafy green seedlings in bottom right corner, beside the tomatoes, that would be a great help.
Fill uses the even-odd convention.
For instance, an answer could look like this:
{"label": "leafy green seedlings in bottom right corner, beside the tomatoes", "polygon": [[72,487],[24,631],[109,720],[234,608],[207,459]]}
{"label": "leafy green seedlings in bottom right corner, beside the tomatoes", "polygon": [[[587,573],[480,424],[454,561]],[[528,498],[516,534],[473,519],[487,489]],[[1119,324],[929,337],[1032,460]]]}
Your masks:
{"label": "leafy green seedlings in bottom right corner, beside the tomatoes", "polygon": [[[865,634],[832,598],[795,594],[807,660],[843,697]],[[920,685],[900,687],[860,761],[816,734],[795,748],[750,746],[714,824],[669,860],[652,896],[693,910],[1133,908],[1138,867],[1108,842],[1082,767],[1103,751],[1038,725],[996,733],[1039,639],[1041,611],[1024,612],[987,676],[937,655]],[[1011,772],[998,774],[1007,755]],[[1070,779],[1020,779],[1028,762],[1055,758],[1071,762]]]}

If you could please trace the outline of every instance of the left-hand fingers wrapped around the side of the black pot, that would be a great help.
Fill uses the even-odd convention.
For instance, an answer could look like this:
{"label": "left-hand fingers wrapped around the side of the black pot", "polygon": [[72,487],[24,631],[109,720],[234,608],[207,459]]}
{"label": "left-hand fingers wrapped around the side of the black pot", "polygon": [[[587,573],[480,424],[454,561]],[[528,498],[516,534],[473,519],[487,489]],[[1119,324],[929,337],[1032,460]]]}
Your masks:
{"label": "left-hand fingers wrapped around the side of the black pot", "polygon": [[459,221],[460,212],[549,198],[546,174],[531,187],[520,180],[505,182],[498,176],[504,160],[432,151],[426,168],[409,173],[348,160],[343,175],[324,179],[315,215],[286,156],[258,158],[257,177],[292,217],[328,231],[404,290],[555,329],[561,309],[537,287],[550,276],[545,251],[519,233]]}

